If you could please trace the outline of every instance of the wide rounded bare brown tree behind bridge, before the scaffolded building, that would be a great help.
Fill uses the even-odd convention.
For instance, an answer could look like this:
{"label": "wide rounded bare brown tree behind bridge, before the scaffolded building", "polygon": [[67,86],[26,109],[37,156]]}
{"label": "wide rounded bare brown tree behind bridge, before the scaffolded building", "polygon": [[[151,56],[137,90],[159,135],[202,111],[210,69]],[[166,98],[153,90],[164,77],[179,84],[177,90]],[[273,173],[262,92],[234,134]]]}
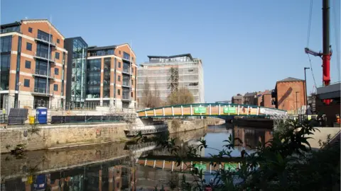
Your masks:
{"label": "wide rounded bare brown tree behind bridge, before the scaffolded building", "polygon": [[169,105],[194,103],[194,97],[188,88],[182,87],[168,96],[167,103]]}

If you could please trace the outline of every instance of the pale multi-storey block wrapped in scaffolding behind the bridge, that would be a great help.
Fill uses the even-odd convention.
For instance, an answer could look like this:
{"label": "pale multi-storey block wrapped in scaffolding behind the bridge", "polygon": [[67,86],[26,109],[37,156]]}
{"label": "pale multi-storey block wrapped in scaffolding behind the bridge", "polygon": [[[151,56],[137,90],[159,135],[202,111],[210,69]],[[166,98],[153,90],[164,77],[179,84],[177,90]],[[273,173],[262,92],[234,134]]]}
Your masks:
{"label": "pale multi-storey block wrapped in scaffolding behind the bridge", "polygon": [[188,88],[193,94],[195,103],[205,103],[204,75],[201,59],[193,58],[191,54],[174,56],[148,56],[149,62],[140,64],[136,95],[141,100],[144,96],[144,83],[148,78],[150,90],[156,89],[160,98],[167,101],[167,97],[180,88]]}

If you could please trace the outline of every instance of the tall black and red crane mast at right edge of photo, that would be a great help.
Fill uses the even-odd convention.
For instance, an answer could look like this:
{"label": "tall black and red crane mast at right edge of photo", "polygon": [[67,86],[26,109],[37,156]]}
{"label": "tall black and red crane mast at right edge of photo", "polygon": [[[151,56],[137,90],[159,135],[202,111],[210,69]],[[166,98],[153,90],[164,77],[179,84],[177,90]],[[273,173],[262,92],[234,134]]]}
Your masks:
{"label": "tall black and red crane mast at right edge of photo", "polygon": [[[323,68],[323,86],[330,84],[330,57],[332,51],[330,50],[330,6],[329,0],[323,0],[323,52],[315,52],[305,47],[305,53],[311,54],[315,57],[322,57],[322,68]],[[323,100],[326,105],[329,105],[330,100]]]}

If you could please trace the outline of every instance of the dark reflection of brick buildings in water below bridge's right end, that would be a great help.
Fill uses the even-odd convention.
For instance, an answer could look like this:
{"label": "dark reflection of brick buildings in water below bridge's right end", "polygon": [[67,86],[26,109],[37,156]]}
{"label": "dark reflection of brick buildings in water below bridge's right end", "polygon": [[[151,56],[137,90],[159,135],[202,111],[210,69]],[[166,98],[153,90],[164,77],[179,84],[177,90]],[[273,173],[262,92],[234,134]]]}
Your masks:
{"label": "dark reflection of brick buildings in water below bridge's right end", "polygon": [[[236,139],[239,138],[242,143]],[[272,138],[270,129],[256,129],[247,127],[234,127],[234,144],[239,144],[245,149],[254,149],[259,141],[264,144]],[[251,147],[251,148],[250,148]]]}

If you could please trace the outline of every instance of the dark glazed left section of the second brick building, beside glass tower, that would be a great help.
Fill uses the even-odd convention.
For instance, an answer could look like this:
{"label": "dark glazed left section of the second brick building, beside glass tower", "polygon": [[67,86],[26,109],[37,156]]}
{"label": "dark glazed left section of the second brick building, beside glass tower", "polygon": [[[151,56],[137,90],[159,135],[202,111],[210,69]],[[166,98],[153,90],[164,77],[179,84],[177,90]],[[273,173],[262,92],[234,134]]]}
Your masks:
{"label": "dark glazed left section of the second brick building, beside glass tower", "polygon": [[101,88],[101,59],[87,61],[87,98],[99,98]]}

